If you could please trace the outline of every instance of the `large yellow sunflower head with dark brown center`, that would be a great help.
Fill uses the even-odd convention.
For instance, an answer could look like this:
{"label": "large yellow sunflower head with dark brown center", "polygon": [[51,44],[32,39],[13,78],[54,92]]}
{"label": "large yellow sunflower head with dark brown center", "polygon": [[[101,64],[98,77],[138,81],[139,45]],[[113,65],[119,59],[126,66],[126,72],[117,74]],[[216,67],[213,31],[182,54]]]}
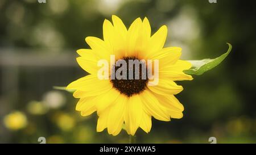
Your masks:
{"label": "large yellow sunflower head with dark brown center", "polygon": [[[137,18],[126,28],[122,20],[112,16],[112,22],[105,19],[103,37],[86,37],[91,49],[79,49],[77,62],[88,76],[73,81],[67,89],[76,90],[73,97],[79,98],[76,110],[82,116],[97,112],[97,132],[108,129],[110,135],[118,135],[123,127],[134,135],[140,127],[150,132],[151,118],[170,121],[183,117],[183,105],[175,94],[183,90],[174,81],[192,80],[183,70],[191,68],[188,61],[179,60],[181,48],[166,47],[167,27],[162,26],[151,36],[147,18]],[[110,62],[110,56],[117,60],[158,60],[158,85],[150,86],[151,79],[99,79],[99,60]],[[147,66],[147,69],[150,67]],[[109,69],[112,66],[109,65]],[[116,71],[116,70],[115,70]],[[141,71],[139,72],[141,75]]]}

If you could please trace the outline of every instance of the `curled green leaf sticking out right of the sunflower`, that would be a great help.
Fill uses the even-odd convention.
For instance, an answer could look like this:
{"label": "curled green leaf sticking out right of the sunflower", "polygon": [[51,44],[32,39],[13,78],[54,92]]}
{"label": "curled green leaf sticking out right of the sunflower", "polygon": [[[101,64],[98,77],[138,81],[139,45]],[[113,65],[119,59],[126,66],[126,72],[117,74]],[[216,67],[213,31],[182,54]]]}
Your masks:
{"label": "curled green leaf sticking out right of the sunflower", "polygon": [[189,62],[191,62],[192,67],[191,69],[184,70],[183,72],[189,75],[200,76],[204,72],[207,72],[208,70],[213,69],[218,64],[220,64],[229,55],[230,51],[232,50],[232,45],[229,43],[227,44],[229,45],[228,51],[217,58],[214,58],[214,59],[205,58],[203,60],[188,60]]}

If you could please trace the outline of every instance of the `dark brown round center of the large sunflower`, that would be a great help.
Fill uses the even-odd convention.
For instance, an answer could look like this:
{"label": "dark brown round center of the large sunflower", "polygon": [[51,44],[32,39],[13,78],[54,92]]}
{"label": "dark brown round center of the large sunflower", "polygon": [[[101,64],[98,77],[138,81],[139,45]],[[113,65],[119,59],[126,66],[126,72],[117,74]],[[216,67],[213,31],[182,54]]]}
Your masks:
{"label": "dark brown round center of the large sunflower", "polygon": [[[127,97],[131,97],[131,95],[133,94],[139,94],[141,93],[143,90],[145,90],[147,82],[148,82],[148,78],[147,78],[147,67],[146,67],[146,62],[142,62],[140,60],[138,60],[135,57],[123,57],[123,60],[126,61],[127,64],[127,78],[126,79],[111,79],[111,82],[113,83],[113,86],[120,91],[120,93],[127,95]],[[141,63],[139,64],[139,70],[137,69],[137,71],[139,72],[135,72],[136,71],[136,67],[138,67],[138,65],[135,65],[134,63],[131,64],[131,62],[129,60],[133,60],[133,61],[140,61]],[[130,63],[130,64],[129,64]],[[130,68],[129,68],[130,65]],[[143,66],[146,70],[146,72],[143,71]],[[115,70],[114,73],[117,72],[117,70],[119,68],[121,68],[122,65],[120,66],[115,66],[115,69],[113,68],[113,70]],[[133,78],[129,78],[129,70],[131,70],[130,73],[133,73],[130,75],[133,76]],[[112,72],[112,74],[114,74]],[[137,75],[137,78],[135,78],[136,73],[139,73]],[[122,73],[123,74],[123,73]],[[138,78],[139,76],[139,78]],[[145,78],[146,77],[146,78]]]}

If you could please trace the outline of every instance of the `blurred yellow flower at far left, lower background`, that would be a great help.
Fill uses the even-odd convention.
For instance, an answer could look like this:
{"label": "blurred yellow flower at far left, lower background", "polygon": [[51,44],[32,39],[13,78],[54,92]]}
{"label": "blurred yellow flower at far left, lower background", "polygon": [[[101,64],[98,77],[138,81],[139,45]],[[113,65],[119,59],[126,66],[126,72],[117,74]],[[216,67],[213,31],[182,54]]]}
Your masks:
{"label": "blurred yellow flower at far left, lower background", "polygon": [[15,111],[5,116],[3,122],[11,130],[18,130],[26,127],[27,117],[23,112]]}

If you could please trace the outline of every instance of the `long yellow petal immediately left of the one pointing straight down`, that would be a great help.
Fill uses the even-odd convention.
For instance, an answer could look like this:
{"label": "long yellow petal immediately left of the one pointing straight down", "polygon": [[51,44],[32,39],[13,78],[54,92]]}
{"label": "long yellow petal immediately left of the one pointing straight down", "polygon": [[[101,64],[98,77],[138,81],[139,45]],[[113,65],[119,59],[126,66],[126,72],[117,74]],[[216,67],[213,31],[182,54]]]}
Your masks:
{"label": "long yellow petal immediately left of the one pointing straight down", "polygon": [[123,125],[123,113],[127,104],[128,98],[125,95],[119,95],[117,100],[109,109],[108,117],[108,133],[110,135],[118,135]]}

